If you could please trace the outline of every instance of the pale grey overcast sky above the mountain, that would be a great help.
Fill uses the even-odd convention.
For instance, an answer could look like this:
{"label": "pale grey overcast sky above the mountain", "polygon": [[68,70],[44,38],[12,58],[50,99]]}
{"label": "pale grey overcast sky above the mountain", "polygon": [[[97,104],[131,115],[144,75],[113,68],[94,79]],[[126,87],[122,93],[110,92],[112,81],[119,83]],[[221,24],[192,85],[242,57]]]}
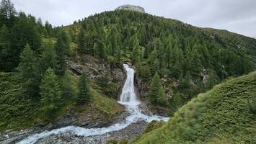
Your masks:
{"label": "pale grey overcast sky above the mountain", "polygon": [[41,17],[54,26],[71,24],[123,4],[147,13],[179,19],[198,27],[213,27],[256,37],[256,0],[12,0],[17,11]]}

